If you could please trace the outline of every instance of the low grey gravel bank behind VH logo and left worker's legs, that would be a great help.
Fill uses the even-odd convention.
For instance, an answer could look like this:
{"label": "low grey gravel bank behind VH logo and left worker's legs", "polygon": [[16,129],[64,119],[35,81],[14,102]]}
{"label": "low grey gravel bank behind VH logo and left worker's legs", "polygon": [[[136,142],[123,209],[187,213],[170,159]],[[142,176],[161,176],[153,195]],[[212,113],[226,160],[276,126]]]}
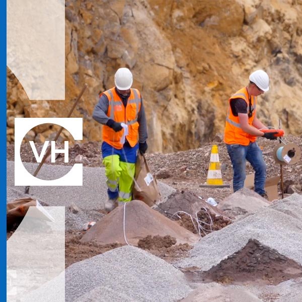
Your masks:
{"label": "low grey gravel bank behind VH logo and left worker's legs", "polygon": [[[30,173],[34,173],[38,164],[24,163]],[[41,179],[57,179],[70,171],[70,166],[43,165],[38,176]],[[175,189],[158,182],[163,199],[171,195]],[[104,208],[107,199],[105,168],[83,167],[83,186],[32,186],[29,193],[23,194],[25,187],[14,186],[14,162],[7,162],[7,187],[10,200],[35,195],[50,206],[70,206],[77,204],[86,210]],[[11,188],[14,190],[12,191]],[[15,195],[16,194],[16,198]]]}

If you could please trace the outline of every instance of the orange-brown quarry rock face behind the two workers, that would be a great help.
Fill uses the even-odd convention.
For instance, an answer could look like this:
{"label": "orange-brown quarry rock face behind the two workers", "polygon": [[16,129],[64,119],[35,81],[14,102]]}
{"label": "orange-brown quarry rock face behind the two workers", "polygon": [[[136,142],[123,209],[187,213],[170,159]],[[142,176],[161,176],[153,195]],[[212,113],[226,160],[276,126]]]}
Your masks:
{"label": "orange-brown quarry rock face behind the two workers", "polygon": [[[258,117],[286,134],[302,129],[302,3],[299,0],[65,1],[65,101],[29,101],[8,72],[8,143],[14,117],[83,117],[83,140],[101,140],[91,115],[98,94],[114,86],[117,68],[134,75],[143,96],[150,152],[199,147],[224,128],[228,98],[266,70],[270,91]],[[53,132],[33,129],[37,141]],[[65,131],[62,138],[69,138]],[[72,141],[72,139],[71,139]]]}

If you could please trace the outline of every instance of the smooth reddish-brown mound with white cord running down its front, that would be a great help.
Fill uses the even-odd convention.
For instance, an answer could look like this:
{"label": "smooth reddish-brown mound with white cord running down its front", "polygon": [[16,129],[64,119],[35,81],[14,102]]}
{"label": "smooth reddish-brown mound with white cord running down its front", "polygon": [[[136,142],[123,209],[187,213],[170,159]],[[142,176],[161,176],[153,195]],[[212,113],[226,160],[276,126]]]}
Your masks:
{"label": "smooth reddish-brown mound with white cord running down its front", "polygon": [[[125,210],[125,223],[124,223]],[[124,228],[125,226],[125,228]],[[146,236],[170,235],[179,243],[192,244],[199,237],[187,231],[159,212],[149,208],[140,200],[127,202],[119,206],[98,221],[81,239],[81,242],[95,241],[99,244],[129,244],[136,245],[139,239]]]}

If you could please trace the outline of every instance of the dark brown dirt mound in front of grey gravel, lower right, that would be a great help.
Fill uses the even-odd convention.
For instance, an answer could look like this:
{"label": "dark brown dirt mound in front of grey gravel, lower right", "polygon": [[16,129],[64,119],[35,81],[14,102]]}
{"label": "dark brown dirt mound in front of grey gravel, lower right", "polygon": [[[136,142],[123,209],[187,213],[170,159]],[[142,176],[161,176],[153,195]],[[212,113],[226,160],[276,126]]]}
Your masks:
{"label": "dark brown dirt mound in front of grey gravel, lower right", "polygon": [[252,282],[279,284],[302,277],[302,266],[276,250],[250,239],[240,251],[222,260],[206,272],[188,273],[195,281],[239,284]]}

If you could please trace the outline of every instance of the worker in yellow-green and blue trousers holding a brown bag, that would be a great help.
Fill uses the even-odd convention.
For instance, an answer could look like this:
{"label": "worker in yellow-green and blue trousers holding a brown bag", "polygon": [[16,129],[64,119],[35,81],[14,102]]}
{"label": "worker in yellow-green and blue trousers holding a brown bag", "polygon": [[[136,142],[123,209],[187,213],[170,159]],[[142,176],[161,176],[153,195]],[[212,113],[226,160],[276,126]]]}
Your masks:
{"label": "worker in yellow-green and blue trousers holding a brown bag", "polygon": [[132,89],[128,68],[119,68],[115,87],[100,94],[93,118],[103,124],[102,156],[107,177],[108,200],[105,210],[132,200],[132,186],[137,152],[147,150],[147,125],[142,97]]}

